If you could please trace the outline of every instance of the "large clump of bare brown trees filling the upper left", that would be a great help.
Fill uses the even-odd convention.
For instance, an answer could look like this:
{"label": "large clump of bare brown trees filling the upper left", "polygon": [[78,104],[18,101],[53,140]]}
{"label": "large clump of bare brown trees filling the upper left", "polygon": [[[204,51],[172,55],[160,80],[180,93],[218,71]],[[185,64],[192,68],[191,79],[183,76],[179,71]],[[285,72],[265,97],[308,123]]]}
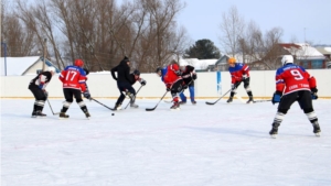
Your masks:
{"label": "large clump of bare brown trees filling the upper left", "polygon": [[45,53],[60,68],[82,58],[92,72],[109,70],[128,56],[134,68],[154,72],[184,53],[186,31],[175,22],[184,7],[180,0],[3,0],[1,41],[9,56]]}

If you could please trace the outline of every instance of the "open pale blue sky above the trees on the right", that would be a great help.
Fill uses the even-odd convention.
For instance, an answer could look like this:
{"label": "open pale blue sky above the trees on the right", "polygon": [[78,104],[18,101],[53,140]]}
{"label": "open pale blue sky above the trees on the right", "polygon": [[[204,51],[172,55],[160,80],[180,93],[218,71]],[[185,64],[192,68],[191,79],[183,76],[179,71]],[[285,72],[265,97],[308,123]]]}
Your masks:
{"label": "open pale blue sky above the trees on the right", "polygon": [[[221,48],[222,14],[235,6],[245,23],[253,20],[263,33],[280,26],[282,41],[331,45],[331,0],[185,0],[178,17],[193,42],[209,39]],[[222,50],[221,50],[222,51]]]}

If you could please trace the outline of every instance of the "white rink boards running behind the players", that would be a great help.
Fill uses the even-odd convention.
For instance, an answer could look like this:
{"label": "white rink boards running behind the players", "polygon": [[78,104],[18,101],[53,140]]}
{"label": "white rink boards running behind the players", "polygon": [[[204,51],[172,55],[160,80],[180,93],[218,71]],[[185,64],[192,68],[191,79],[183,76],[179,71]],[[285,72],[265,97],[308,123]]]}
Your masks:
{"label": "white rink boards running behind the players", "polygon": [[[319,97],[331,99],[331,69],[309,69],[308,72],[317,78]],[[256,99],[273,96],[275,91],[275,70],[250,72],[250,88]],[[46,88],[50,98],[63,98],[62,84],[57,76],[53,76]],[[28,86],[34,77],[35,75],[2,76],[1,98],[33,98]],[[141,74],[141,77],[147,80],[147,85],[141,88],[137,98],[159,99],[163,96],[166,86],[156,74]],[[195,80],[196,99],[215,99],[226,92],[231,88],[229,73],[221,72],[221,80],[218,77],[218,81],[221,84],[217,84],[217,72],[197,73],[197,79]],[[117,98],[119,96],[116,81],[111,78],[110,73],[88,75],[87,85],[94,98]],[[140,84],[137,83],[134,87],[138,90]],[[189,96],[188,90],[184,94]],[[243,85],[238,88],[238,95],[247,98]],[[170,94],[167,97],[170,97]]]}

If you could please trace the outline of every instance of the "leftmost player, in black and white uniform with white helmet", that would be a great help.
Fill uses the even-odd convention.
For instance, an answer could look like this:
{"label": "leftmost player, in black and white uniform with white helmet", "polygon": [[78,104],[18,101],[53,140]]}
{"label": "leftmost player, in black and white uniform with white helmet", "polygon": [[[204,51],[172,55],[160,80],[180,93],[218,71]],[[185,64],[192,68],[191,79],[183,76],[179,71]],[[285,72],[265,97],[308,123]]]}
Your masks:
{"label": "leftmost player, in black and white uniform with white helmet", "polygon": [[29,89],[32,91],[35,101],[33,105],[32,118],[46,117],[43,113],[43,108],[47,99],[46,86],[55,74],[54,67],[49,67],[49,70],[40,73],[35,78],[33,78],[29,84]]}

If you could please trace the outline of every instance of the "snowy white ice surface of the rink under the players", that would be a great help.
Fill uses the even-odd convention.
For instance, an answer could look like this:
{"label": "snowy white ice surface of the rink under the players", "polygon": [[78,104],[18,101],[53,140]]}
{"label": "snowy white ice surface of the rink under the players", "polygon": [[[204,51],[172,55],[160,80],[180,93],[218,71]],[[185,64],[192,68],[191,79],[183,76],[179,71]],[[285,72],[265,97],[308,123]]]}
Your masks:
{"label": "snowy white ice surface of the rink under the players", "polygon": [[[113,107],[115,100],[98,99]],[[51,99],[54,112],[62,107]],[[125,105],[128,100],[126,100]],[[277,139],[277,106],[161,101],[115,112],[74,102],[70,119],[32,119],[32,99],[1,99],[1,186],[330,186],[331,100],[316,100],[321,136],[293,105]],[[213,100],[210,100],[213,101]]]}

